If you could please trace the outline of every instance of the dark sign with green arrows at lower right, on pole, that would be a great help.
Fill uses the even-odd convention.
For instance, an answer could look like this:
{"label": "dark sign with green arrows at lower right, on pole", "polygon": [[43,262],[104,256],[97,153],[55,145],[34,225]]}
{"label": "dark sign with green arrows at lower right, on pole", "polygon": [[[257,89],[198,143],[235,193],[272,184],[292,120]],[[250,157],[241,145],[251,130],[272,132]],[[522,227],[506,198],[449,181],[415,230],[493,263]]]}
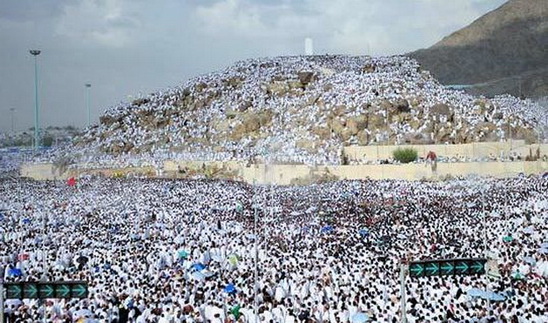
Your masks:
{"label": "dark sign with green arrows at lower right, on pole", "polygon": [[422,260],[409,263],[410,277],[447,276],[447,275],[483,275],[483,258]]}

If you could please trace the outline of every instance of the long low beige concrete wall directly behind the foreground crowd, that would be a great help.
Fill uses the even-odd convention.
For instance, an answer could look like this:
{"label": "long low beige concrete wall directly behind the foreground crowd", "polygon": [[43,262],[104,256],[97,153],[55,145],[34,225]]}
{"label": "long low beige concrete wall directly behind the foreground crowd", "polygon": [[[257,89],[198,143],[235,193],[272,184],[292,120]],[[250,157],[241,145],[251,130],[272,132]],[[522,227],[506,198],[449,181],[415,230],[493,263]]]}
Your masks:
{"label": "long low beige concrete wall directly behind the foreground crowd", "polygon": [[[306,166],[306,165],[246,165],[243,162],[186,162],[166,161],[164,174],[157,174],[152,167],[124,169],[79,169],[64,174],[56,174],[52,164],[25,164],[21,175],[37,180],[66,179],[78,174],[102,174],[105,176],[142,174],[150,177],[177,177],[179,169],[204,170],[207,174],[212,169],[221,170],[220,177],[242,180],[247,183],[289,185],[298,179],[329,174],[338,179],[402,179],[420,180],[423,178],[444,178],[477,174],[480,176],[511,177],[518,174],[542,174],[548,172],[548,162],[472,162],[472,163],[438,163],[437,172],[433,173],[426,164],[405,165],[348,165],[348,166]],[[198,172],[200,173],[200,172]]]}

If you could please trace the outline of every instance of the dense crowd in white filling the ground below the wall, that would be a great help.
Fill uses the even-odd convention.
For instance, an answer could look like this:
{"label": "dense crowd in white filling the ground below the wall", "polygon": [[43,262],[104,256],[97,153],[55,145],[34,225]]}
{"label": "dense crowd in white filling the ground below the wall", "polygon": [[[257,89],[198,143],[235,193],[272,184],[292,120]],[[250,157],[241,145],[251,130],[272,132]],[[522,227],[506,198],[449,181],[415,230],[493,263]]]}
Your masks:
{"label": "dense crowd in white filling the ground below the wall", "polygon": [[303,187],[4,176],[0,192],[4,280],[89,284],[87,299],[8,299],[8,322],[400,322],[402,262],[486,256],[498,276],[408,278],[408,322],[548,321],[546,176]]}

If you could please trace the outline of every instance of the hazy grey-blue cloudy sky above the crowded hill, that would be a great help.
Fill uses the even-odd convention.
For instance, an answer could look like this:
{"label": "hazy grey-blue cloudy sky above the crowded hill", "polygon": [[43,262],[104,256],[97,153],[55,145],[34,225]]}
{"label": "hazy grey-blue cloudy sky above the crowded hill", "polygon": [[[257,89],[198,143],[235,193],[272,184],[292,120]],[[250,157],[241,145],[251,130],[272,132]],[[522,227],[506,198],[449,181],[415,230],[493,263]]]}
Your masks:
{"label": "hazy grey-blue cloudy sky above the crowded hill", "polygon": [[128,96],[250,57],[390,55],[429,47],[505,0],[1,0],[0,131],[86,124]]}

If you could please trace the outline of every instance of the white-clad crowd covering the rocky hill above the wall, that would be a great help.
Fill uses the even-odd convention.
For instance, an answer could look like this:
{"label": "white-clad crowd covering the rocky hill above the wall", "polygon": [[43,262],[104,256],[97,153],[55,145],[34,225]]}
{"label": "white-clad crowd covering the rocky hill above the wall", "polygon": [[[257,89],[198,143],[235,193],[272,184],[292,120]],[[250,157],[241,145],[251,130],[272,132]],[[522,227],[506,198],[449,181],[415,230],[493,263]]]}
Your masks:
{"label": "white-clad crowd covering the rocky hill above the wall", "polygon": [[[310,83],[291,87],[299,82],[299,72],[312,72]],[[68,155],[101,167],[104,163],[127,164],[125,159],[109,160],[99,153],[105,150],[117,151],[116,155],[129,150],[149,161],[174,156],[184,160],[247,161],[268,152],[271,158],[284,163],[341,164],[343,143],[355,143],[356,136],[347,140],[335,134],[322,137],[315,130],[328,129],[329,116],[340,107],[345,109],[344,118],[350,118],[373,113],[371,107],[383,101],[398,100],[418,104],[411,106],[410,113],[413,121],[421,124],[413,130],[407,122],[387,121],[390,135],[401,140],[407,134],[423,132],[432,122],[453,129],[451,140],[464,127],[475,131],[474,127],[484,122],[495,125],[497,140],[509,138],[508,122],[512,129],[525,127],[541,134],[548,125],[548,116],[536,103],[511,96],[482,101],[449,90],[407,57],[275,57],[237,62],[184,85],[113,106],[103,114],[104,122],[78,139],[86,144],[57,156]],[[439,103],[450,107],[452,121],[446,120],[447,116],[430,114],[430,108]],[[478,114],[481,105],[488,107]],[[233,138],[231,132],[244,120],[230,111],[267,113],[271,119],[260,124],[261,135],[249,132]],[[377,109],[374,113],[386,111]],[[388,136],[371,127],[363,131],[370,138],[368,144],[383,143]],[[475,136],[473,141],[484,141],[486,134],[478,131]],[[314,151],[299,146],[302,142],[314,142]],[[94,156],[91,161],[89,156]]]}

